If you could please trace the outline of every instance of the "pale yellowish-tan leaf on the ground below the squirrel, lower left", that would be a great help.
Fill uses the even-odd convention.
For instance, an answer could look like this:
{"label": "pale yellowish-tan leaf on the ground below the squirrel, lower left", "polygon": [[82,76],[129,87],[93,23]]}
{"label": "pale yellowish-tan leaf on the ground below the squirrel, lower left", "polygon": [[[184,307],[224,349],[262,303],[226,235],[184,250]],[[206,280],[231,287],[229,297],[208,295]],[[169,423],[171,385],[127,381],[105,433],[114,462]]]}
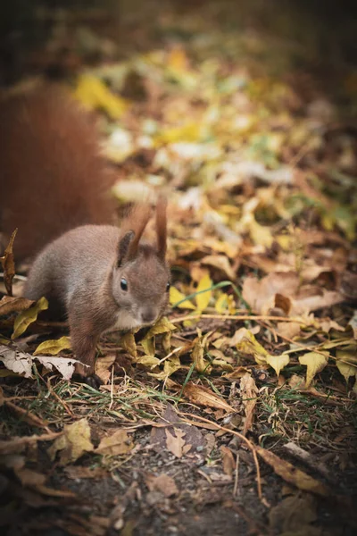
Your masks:
{"label": "pale yellowish-tan leaf on the ground below the squirrel, lower left", "polygon": [[60,453],[60,465],[75,462],[80,456],[94,449],[90,440],[90,428],[86,418],[65,425],[63,434],[47,449],[48,456],[54,461],[57,452]]}

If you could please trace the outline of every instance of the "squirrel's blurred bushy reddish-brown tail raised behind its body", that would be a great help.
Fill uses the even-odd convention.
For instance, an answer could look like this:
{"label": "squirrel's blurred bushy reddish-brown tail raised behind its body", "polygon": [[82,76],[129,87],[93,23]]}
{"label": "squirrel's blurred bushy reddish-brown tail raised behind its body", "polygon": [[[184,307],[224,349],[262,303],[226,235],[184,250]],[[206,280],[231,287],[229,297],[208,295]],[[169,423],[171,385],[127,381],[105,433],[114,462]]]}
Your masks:
{"label": "squirrel's blurred bushy reddish-brown tail raised behind its body", "polygon": [[68,92],[46,84],[3,98],[0,126],[0,231],[6,244],[19,229],[17,260],[78,225],[113,222],[112,174]]}

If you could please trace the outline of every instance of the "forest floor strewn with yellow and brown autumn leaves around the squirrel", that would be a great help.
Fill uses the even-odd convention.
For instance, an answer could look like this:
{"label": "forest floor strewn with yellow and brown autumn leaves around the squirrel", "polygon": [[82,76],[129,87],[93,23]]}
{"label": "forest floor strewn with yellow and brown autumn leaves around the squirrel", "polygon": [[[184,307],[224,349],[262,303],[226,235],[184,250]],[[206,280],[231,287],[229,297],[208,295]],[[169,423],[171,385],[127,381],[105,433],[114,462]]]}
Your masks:
{"label": "forest floor strewn with yellow and brown autumn leaves around the squirrel", "polygon": [[168,192],[170,309],[101,340],[93,389],[65,379],[68,333],[33,306],[6,353],[0,301],[7,536],[357,529],[350,28],[328,40],[299,3],[242,4],[124,2],[120,36],[55,22],[120,206]]}

